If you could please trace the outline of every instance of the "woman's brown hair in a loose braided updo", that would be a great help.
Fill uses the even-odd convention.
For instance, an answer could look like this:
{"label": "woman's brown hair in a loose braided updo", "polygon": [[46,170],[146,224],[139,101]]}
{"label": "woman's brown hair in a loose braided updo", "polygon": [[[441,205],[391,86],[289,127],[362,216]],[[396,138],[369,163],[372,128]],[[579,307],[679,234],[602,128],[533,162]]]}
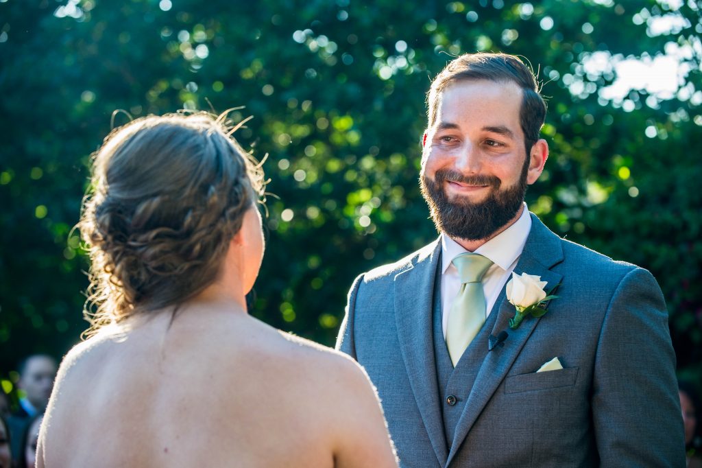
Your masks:
{"label": "woman's brown hair in a loose braided updo", "polygon": [[91,259],[88,334],[181,304],[216,280],[265,186],[225,118],[143,117],[114,129],[95,153],[78,223]]}

